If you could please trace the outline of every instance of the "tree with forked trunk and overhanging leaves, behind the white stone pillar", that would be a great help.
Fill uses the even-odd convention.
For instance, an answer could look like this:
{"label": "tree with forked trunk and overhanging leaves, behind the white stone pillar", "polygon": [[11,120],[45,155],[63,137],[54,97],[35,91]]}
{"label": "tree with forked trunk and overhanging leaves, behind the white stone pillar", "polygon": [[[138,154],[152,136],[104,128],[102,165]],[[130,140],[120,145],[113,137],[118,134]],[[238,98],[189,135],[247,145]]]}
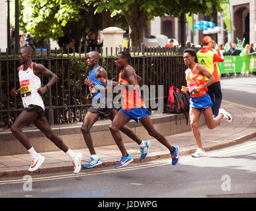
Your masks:
{"label": "tree with forked trunk and overhanging leaves, behind the white stone pillar", "polygon": [[[200,13],[211,16],[222,11],[219,0],[91,0],[97,13],[110,11],[112,16],[122,13],[130,26],[132,47],[140,47],[143,27],[155,16],[166,15],[180,18],[183,13]],[[89,1],[86,1],[89,2]]]}

